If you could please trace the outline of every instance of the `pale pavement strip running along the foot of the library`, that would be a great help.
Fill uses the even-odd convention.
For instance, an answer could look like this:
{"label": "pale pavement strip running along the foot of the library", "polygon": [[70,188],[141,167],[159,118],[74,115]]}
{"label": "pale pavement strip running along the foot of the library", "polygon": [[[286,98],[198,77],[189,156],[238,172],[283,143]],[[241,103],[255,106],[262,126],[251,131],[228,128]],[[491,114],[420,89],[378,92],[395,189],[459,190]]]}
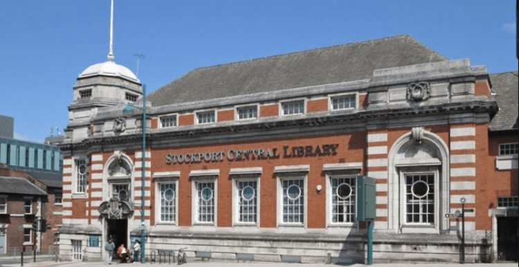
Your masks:
{"label": "pale pavement strip running along the foot of the library", "polygon": [[[118,264],[113,261],[113,264],[107,265],[100,261],[89,261],[89,262],[78,262],[78,261],[62,261],[56,262],[51,258],[37,258],[36,262],[33,262],[33,258],[24,258],[23,266],[30,267],[87,267],[87,266],[111,266],[111,267],[124,267],[124,266],[142,266],[142,267],[160,267],[160,266],[176,266],[177,264],[158,264],[158,263],[134,263],[134,264]],[[236,261],[192,261],[188,259],[188,264],[182,264],[182,267],[338,267],[338,266],[351,266],[361,267],[366,264],[291,264],[284,262],[236,262]],[[419,262],[415,264],[373,264],[374,267],[451,267],[460,266],[461,264],[446,264],[446,263],[424,263]],[[0,257],[1,267],[19,267],[22,266],[19,257]],[[508,263],[497,263],[497,264],[464,264],[466,267],[517,267],[517,262]]]}

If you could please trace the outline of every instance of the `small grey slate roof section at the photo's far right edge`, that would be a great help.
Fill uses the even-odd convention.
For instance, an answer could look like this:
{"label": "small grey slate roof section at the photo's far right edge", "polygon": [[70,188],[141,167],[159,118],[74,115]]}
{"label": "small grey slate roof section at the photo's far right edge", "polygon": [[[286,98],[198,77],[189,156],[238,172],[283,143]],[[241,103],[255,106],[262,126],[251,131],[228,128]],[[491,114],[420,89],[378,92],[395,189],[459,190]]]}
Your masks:
{"label": "small grey slate roof section at the photo's far right edge", "polygon": [[490,75],[492,98],[498,102],[499,111],[492,118],[490,131],[518,129],[518,72]]}

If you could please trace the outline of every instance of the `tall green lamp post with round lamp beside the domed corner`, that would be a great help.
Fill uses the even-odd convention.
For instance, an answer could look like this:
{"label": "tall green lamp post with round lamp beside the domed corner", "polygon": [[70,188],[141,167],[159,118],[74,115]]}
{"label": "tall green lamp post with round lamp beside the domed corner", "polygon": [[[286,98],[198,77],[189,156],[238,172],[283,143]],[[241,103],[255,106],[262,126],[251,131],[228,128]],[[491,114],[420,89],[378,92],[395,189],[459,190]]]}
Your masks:
{"label": "tall green lamp post with round lamp beside the domed corner", "polygon": [[[140,178],[141,178],[141,185],[140,185],[140,224],[144,225],[145,220],[145,186],[146,186],[146,86],[143,85],[143,107],[137,107],[134,104],[128,103],[125,107],[125,109],[122,109],[122,113],[125,114],[126,118],[130,118],[131,116],[134,116],[135,108],[141,109],[143,111],[143,154],[142,154],[142,165],[140,166]],[[140,262],[145,262],[145,228],[142,227],[142,234],[140,236],[140,243],[142,248],[140,249]]]}

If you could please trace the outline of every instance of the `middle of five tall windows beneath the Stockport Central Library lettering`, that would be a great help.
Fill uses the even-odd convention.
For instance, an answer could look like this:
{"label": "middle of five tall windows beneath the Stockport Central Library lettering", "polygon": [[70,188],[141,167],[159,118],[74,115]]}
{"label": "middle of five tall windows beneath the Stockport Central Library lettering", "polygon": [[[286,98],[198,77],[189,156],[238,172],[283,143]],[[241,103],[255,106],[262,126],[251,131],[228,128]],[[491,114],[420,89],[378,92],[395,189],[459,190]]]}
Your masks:
{"label": "middle of five tall windows beneath the Stockport Central Library lettering", "polygon": [[257,223],[257,181],[236,181],[238,222]]}

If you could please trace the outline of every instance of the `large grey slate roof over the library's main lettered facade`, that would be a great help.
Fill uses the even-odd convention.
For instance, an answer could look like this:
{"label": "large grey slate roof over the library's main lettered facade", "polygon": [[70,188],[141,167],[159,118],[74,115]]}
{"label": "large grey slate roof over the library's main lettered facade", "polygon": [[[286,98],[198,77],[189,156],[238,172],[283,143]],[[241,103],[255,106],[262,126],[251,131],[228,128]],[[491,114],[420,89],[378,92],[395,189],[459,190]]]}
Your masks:
{"label": "large grey slate roof over the library's main lettered facade", "polygon": [[372,77],[379,68],[446,61],[446,57],[399,35],[197,68],[151,93],[154,107]]}

